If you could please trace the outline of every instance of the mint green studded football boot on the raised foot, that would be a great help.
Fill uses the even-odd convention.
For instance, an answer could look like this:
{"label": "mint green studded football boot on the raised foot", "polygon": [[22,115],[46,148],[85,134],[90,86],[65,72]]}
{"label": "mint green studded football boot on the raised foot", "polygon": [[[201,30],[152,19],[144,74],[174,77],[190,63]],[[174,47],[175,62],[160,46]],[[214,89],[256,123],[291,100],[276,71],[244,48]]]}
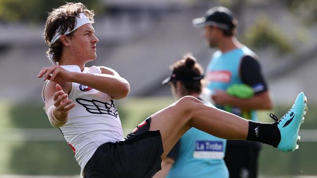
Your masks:
{"label": "mint green studded football boot on the raised foot", "polygon": [[277,121],[277,127],[281,135],[281,140],[277,145],[277,149],[283,152],[294,151],[298,148],[297,140],[299,127],[304,123],[304,115],[306,114],[307,98],[303,92],[299,93],[293,107],[279,120],[274,114],[270,116]]}

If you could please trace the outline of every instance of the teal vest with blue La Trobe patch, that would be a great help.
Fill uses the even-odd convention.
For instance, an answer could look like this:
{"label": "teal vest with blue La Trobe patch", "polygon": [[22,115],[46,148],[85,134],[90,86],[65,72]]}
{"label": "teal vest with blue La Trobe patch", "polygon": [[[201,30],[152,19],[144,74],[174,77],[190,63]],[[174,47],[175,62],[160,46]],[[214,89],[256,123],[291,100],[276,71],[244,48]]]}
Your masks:
{"label": "teal vest with blue La Trobe patch", "polygon": [[166,178],[229,178],[223,160],[227,140],[191,128],[179,141],[178,158]]}

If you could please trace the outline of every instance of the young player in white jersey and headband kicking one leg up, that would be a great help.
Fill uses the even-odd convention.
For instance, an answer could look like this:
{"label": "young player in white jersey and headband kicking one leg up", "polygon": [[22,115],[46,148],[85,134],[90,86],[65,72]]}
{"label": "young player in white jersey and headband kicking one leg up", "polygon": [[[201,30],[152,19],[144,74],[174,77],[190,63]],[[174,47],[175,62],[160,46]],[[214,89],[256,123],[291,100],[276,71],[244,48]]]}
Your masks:
{"label": "young player in white jersey and headband kicking one leg up", "polygon": [[96,58],[93,16],[81,3],[66,3],[49,13],[44,38],[55,65],[38,75],[46,81],[42,96],[49,121],[75,152],[81,177],[150,178],[191,127],[224,139],[263,142],[284,152],[296,149],[306,108],[303,93],[285,116],[270,124],[247,121],[185,96],[123,139],[113,100],[127,96],[129,83],[112,69],[85,67]]}

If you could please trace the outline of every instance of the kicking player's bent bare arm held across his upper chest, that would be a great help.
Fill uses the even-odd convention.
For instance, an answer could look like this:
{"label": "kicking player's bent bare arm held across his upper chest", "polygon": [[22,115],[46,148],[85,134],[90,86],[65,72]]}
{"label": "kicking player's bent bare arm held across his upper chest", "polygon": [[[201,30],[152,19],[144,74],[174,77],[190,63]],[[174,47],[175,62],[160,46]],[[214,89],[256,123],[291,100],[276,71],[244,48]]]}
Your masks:
{"label": "kicking player's bent bare arm held across his upper chest", "polygon": [[[44,80],[48,79],[57,83],[75,82],[107,93],[113,99],[125,98],[130,92],[128,81],[110,68],[100,67],[100,70],[102,73],[79,73],[54,65],[43,68],[38,77],[44,77]],[[52,73],[51,76],[50,73]]]}

